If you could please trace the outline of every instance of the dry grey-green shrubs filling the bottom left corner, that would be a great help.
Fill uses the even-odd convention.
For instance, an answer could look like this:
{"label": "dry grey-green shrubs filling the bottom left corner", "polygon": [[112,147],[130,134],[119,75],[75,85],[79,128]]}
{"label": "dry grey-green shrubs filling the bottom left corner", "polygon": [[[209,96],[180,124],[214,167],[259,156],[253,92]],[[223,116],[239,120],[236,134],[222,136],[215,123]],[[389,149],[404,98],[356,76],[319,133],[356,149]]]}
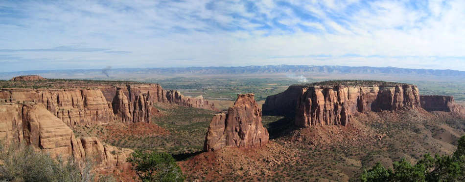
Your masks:
{"label": "dry grey-green shrubs filling the bottom left corner", "polygon": [[[21,144],[0,144],[0,182],[93,182],[93,163],[48,154]],[[103,182],[112,181],[102,178]]]}

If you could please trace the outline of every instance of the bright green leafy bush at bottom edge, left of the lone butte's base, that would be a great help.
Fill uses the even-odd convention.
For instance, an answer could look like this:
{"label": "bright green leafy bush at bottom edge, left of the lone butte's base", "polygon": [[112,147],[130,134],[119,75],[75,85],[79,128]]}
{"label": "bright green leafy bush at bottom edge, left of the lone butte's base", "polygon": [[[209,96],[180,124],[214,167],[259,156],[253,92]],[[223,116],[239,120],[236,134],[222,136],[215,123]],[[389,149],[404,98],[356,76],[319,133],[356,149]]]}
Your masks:
{"label": "bright green leafy bush at bottom edge, left of the lone butte's base", "polygon": [[142,182],[183,182],[181,168],[168,153],[135,151],[128,158]]}

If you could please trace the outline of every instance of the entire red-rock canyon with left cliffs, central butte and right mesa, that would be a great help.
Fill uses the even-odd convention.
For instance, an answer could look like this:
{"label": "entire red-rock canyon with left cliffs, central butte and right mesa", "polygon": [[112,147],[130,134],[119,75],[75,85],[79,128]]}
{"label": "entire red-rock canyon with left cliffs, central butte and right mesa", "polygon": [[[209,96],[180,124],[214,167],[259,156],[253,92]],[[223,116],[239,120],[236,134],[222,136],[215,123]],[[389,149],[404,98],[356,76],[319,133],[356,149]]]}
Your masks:
{"label": "entire red-rock canyon with left cliffs, central butte and right mesa", "polygon": [[[52,157],[91,158],[98,170],[112,171],[127,166],[141,143],[152,151],[161,151],[157,144],[163,142],[173,148],[195,144],[171,153],[191,181],[315,181],[328,174],[347,181],[370,161],[451,151],[465,127],[464,107],[453,97],[420,95],[417,86],[395,82],[291,85],[268,96],[262,109],[257,95],[238,94],[222,113],[202,97],[154,83],[46,79],[4,81],[0,87],[0,138],[7,144],[24,142]],[[194,114],[204,118],[187,119]],[[140,134],[148,126],[164,134]],[[184,138],[170,141],[177,132]]]}

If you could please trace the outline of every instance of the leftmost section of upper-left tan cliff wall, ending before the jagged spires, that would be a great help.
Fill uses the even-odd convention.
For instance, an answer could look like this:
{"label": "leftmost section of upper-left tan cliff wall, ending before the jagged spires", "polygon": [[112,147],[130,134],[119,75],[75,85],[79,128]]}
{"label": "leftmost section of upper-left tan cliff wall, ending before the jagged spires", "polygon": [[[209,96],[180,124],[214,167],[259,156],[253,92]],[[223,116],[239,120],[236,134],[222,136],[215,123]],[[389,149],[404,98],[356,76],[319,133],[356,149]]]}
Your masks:
{"label": "leftmost section of upper-left tan cliff wall, ending before the jagged spires", "polygon": [[98,89],[8,89],[0,92],[4,99],[42,105],[71,128],[115,120],[111,104]]}

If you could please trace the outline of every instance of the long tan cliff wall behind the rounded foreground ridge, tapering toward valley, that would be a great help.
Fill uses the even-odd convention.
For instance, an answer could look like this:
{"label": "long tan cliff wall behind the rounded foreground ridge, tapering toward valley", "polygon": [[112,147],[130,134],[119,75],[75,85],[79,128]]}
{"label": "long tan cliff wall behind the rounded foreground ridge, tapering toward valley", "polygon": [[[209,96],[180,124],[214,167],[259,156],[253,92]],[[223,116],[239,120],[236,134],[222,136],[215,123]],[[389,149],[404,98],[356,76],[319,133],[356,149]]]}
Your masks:
{"label": "long tan cliff wall behind the rounded foreground ridge, tapering toward valley", "polygon": [[203,98],[185,97],[175,90],[163,90],[159,84],[103,85],[92,89],[19,89],[0,90],[0,99],[34,102],[43,105],[68,126],[149,122],[156,112],[154,103],[177,104],[215,110]]}

